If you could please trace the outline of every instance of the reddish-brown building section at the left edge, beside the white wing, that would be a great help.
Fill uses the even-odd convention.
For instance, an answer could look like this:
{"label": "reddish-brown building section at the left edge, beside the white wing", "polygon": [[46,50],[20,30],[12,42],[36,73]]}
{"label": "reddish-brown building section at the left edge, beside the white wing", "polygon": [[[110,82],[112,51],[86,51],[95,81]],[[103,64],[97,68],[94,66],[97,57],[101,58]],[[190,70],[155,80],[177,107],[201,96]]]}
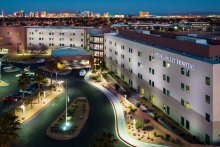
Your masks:
{"label": "reddish-brown building section at the left edge, beside the white wing", "polygon": [[0,50],[23,53],[26,50],[24,27],[0,27]]}

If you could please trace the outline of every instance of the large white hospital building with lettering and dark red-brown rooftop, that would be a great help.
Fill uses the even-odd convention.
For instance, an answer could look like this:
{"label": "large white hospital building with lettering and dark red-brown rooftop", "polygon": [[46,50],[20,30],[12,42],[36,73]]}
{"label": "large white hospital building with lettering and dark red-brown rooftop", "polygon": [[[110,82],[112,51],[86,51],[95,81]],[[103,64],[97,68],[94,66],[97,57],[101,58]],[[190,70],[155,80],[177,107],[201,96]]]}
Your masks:
{"label": "large white hospital building with lettering and dark red-brown rooftop", "polygon": [[110,70],[200,141],[220,142],[220,43],[132,31],[104,38]]}

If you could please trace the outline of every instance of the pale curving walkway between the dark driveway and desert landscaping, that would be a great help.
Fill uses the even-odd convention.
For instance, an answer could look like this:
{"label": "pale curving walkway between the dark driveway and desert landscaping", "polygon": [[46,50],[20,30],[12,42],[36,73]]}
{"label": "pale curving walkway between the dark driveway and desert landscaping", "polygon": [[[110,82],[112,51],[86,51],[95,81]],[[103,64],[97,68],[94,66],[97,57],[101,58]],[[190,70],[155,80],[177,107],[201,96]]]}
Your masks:
{"label": "pale curving walkway between the dark driveway and desert landscaping", "polygon": [[121,104],[114,94],[112,94],[110,91],[105,89],[100,83],[96,83],[92,81],[89,76],[91,75],[91,71],[88,72],[85,76],[85,81],[92,86],[98,88],[100,91],[102,91],[111,101],[112,106],[114,108],[115,113],[115,121],[116,121],[116,132],[120,140],[125,142],[129,146],[138,146],[138,147],[163,147],[162,145],[156,145],[156,144],[150,144],[146,142],[141,142],[139,140],[136,140],[128,135],[126,132],[126,126],[125,126],[125,118],[124,118],[124,112],[121,107]]}

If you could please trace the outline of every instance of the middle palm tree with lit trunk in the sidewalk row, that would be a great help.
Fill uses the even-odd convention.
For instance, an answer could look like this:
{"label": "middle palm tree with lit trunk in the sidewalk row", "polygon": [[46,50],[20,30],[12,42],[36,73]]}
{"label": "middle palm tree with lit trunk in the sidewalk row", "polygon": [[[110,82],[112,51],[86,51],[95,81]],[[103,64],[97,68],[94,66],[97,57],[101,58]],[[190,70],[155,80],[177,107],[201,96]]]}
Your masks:
{"label": "middle palm tree with lit trunk in the sidewalk row", "polygon": [[40,93],[41,93],[41,88],[40,84],[42,84],[45,80],[44,73],[42,70],[37,70],[34,74],[34,80],[37,82],[37,87],[38,87],[38,103],[40,102]]}

